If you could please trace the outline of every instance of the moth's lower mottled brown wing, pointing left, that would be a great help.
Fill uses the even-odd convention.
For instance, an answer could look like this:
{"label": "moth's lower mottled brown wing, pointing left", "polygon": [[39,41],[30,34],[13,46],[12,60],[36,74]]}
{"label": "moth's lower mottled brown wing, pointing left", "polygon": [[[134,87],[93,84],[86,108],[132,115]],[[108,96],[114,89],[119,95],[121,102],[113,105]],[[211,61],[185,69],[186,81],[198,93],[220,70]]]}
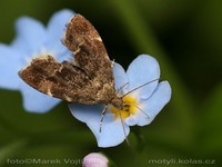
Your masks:
{"label": "moth's lower mottled brown wing, pointing left", "polygon": [[34,89],[70,102],[92,105],[109,100],[82,69],[68,61],[59,63],[51,56],[32,59],[19,76]]}

